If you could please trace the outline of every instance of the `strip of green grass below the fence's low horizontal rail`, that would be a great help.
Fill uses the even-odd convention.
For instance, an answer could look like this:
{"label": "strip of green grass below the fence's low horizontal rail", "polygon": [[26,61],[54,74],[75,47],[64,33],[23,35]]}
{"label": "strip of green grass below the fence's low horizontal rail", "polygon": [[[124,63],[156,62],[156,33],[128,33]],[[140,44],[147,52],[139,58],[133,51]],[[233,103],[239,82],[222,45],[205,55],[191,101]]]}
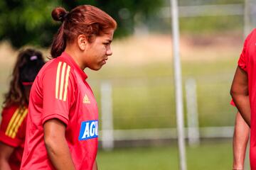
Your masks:
{"label": "strip of green grass below the fence's low horizontal rail", "polygon": [[[232,169],[231,140],[203,142],[200,147],[187,147],[188,170]],[[97,164],[102,170],[171,169],[178,170],[178,148],[144,147],[114,149],[113,152],[100,151]]]}

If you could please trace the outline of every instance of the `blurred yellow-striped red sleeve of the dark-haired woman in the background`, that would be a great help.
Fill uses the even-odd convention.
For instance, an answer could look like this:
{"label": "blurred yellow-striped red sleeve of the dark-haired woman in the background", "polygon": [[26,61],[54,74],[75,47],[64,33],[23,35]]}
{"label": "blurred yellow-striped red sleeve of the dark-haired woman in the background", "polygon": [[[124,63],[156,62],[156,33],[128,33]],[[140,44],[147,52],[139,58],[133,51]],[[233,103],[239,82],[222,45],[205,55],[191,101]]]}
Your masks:
{"label": "blurred yellow-striped red sleeve of the dark-haired woman in the background", "polygon": [[27,108],[9,107],[2,111],[0,125],[0,141],[11,147],[18,147],[25,137],[24,122],[28,113]]}

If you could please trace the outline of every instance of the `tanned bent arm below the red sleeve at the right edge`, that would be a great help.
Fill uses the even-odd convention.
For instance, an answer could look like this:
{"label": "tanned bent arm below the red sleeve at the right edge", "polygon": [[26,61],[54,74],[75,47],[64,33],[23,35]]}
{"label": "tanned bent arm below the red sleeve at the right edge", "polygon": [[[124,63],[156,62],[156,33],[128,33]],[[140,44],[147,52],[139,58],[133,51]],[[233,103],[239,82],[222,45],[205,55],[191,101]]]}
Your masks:
{"label": "tanned bent arm below the red sleeve at the right edge", "polygon": [[248,93],[247,73],[238,67],[230,89],[235,106],[250,127],[250,101]]}

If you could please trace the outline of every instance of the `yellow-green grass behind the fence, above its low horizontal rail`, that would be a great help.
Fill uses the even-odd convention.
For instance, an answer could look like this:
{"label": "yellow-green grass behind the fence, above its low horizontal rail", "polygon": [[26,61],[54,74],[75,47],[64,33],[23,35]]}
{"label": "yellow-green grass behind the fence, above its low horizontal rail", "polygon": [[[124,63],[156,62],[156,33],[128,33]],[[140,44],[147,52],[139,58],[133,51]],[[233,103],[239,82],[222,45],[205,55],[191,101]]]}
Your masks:
{"label": "yellow-green grass behind the fence, above its low horizontal rail", "polygon": [[[183,62],[183,84],[197,82],[201,127],[234,124],[235,108],[230,106],[230,85],[235,60]],[[107,79],[113,88],[114,128],[173,128],[176,126],[174,81],[171,63],[129,67],[106,67],[88,72],[100,107],[100,83]],[[185,91],[183,91],[184,101]],[[186,103],[184,103],[186,104]],[[186,114],[186,105],[184,106]],[[185,115],[186,118],[186,115]]]}

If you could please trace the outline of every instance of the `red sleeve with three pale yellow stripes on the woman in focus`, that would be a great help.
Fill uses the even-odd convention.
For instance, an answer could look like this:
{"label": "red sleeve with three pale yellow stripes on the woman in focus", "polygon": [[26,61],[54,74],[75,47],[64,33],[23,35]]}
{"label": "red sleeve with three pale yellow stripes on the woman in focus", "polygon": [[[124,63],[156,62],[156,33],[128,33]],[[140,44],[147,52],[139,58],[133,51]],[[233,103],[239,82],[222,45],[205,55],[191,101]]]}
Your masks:
{"label": "red sleeve with three pale yellow stripes on the woman in focus", "polygon": [[70,65],[58,62],[46,70],[42,78],[43,122],[53,118],[68,125],[75,94],[75,79]]}

